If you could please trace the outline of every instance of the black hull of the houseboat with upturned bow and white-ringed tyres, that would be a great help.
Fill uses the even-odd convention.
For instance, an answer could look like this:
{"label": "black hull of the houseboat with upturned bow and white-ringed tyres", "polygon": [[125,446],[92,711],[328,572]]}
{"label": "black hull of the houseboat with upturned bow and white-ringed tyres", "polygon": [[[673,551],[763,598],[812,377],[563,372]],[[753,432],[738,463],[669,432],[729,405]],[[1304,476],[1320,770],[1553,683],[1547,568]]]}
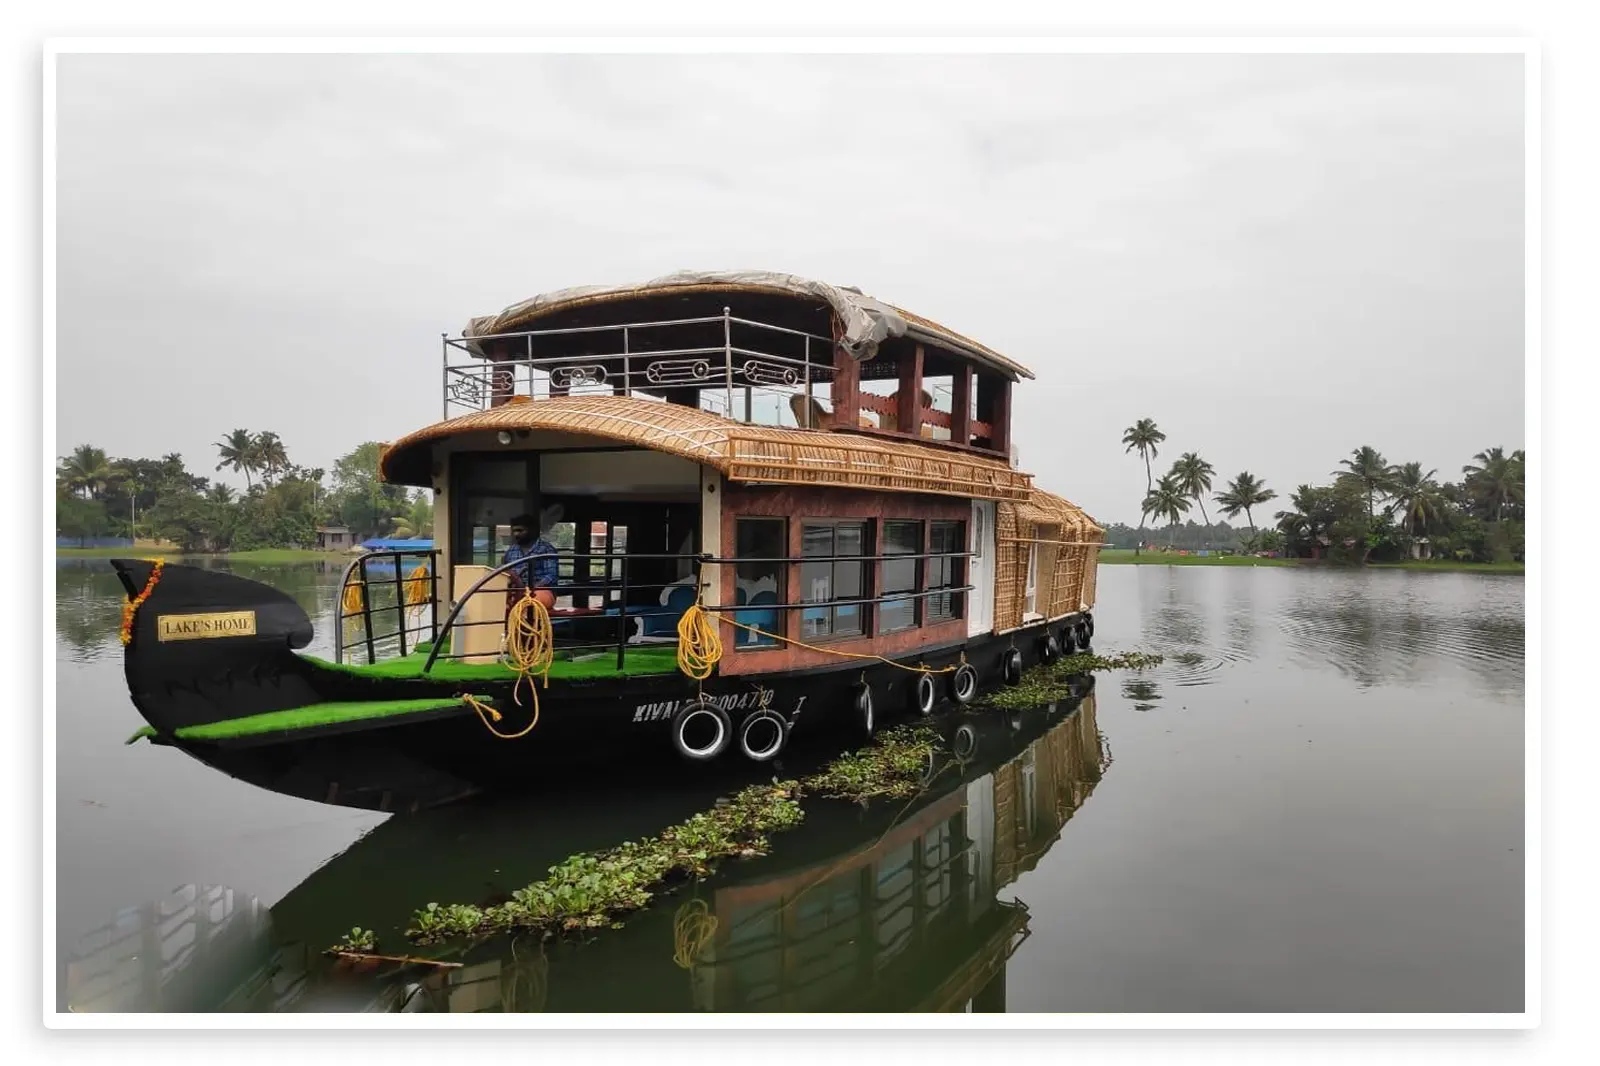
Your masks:
{"label": "black hull of the houseboat with upturned bow and white-ringed tyres", "polygon": [[[149,563],[114,563],[136,594]],[[176,611],[251,608],[258,632],[250,637],[162,642],[157,618]],[[1002,683],[1011,648],[1022,666],[1045,655],[1045,634],[1059,634],[1083,616],[1035,624],[1005,635],[981,635],[902,656],[930,667],[954,666],[965,656],[979,690]],[[526,685],[514,682],[443,682],[370,677],[330,669],[294,648],[310,640],[310,621],[288,597],[230,575],[166,567],[150,599],[136,615],[126,653],[134,706],[154,727],[158,744],[182,749],[200,762],[250,784],[342,807],[410,812],[499,789],[560,784],[568,775],[626,760],[650,778],[723,775],[730,779],[771,776],[730,747],[706,763],[683,759],[672,743],[674,714],[702,698],[738,722],[770,707],[789,723],[786,763],[826,757],[864,743],[869,731],[858,693],[872,693],[877,728],[917,717],[917,674],[878,661],[842,661],[837,667],[710,677],[696,683],[682,674],[597,680],[552,680],[538,691],[538,725],[520,739],[490,731],[464,703],[389,719],[346,720],[291,731],[229,739],[184,739],[184,727],[245,719],[320,703],[453,699],[464,693],[491,699],[506,715],[496,728],[517,731],[530,719]],[[950,675],[936,675],[934,715],[955,707]],[[520,699],[520,704],[518,704]]]}

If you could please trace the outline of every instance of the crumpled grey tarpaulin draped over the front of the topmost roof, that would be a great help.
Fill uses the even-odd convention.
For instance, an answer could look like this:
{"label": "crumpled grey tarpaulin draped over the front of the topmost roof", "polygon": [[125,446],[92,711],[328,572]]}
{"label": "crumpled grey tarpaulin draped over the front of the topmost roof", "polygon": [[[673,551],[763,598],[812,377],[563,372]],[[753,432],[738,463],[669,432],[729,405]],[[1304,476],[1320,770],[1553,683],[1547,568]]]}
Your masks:
{"label": "crumpled grey tarpaulin draped over the front of the topmost roof", "polygon": [[498,315],[474,319],[467,323],[464,336],[507,333],[515,330],[530,315],[536,317],[542,311],[578,299],[624,295],[648,296],[653,290],[685,285],[742,285],[824,299],[834,309],[834,314],[838,315],[838,322],[843,327],[840,343],[856,359],[872,359],[878,351],[878,344],[891,336],[904,336],[907,330],[907,322],[901,312],[853,288],[813,282],[794,274],[773,274],[771,271],[678,271],[677,274],[667,274],[642,285],[586,285],[581,288],[563,288],[557,293],[544,293],[520,304],[512,304]]}

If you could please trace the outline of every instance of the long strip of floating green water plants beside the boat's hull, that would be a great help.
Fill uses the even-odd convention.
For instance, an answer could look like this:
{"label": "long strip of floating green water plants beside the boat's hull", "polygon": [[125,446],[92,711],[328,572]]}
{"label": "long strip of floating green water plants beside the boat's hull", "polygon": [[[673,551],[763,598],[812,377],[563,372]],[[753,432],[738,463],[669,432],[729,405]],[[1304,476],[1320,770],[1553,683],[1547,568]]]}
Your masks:
{"label": "long strip of floating green water plants beside the boat's hull", "polygon": [[800,810],[805,794],[830,799],[915,794],[938,743],[938,733],[926,727],[885,730],[874,744],[835,759],[803,781],[754,784],[656,837],[574,855],[499,906],[429,903],[411,917],[406,936],[430,944],[510,932],[557,936],[616,928],[654,896],[691,877],[709,876],[722,860],[766,855],[768,834],[805,818]]}

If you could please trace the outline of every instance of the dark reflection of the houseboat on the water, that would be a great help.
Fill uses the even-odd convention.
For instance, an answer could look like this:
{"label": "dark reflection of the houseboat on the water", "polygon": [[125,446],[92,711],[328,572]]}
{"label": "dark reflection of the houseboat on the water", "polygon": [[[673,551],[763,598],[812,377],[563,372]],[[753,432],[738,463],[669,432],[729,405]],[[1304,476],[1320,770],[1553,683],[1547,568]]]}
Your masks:
{"label": "dark reflection of the houseboat on the water", "polygon": [[[275,949],[262,951],[258,936],[253,965],[234,964],[224,981],[213,964],[187,986],[227,989],[213,999],[226,1010],[1005,1010],[1006,964],[1027,938],[1029,911],[1002,893],[1059,839],[1109,752],[1093,693],[1014,715],[963,715],[954,728],[966,757],[933,767],[910,802],[811,804],[773,855],[667,896],[621,930],[549,946],[499,940],[454,957],[454,968],[355,970],[309,948],[366,924],[357,884],[370,901],[381,884],[405,885],[389,895],[406,908],[438,898],[442,882],[406,880],[422,847],[435,868],[472,868],[445,871],[446,880],[482,876],[485,861],[506,869],[477,852],[451,855],[451,834],[427,829],[426,818],[392,820],[272,908]],[[555,861],[568,844],[533,861]],[[82,980],[91,973],[83,965],[69,964],[74,1008],[118,1008]],[[102,970],[104,959],[93,964]],[[149,978],[134,988],[142,996]],[[157,991],[138,1008],[184,1008],[178,1002]]]}

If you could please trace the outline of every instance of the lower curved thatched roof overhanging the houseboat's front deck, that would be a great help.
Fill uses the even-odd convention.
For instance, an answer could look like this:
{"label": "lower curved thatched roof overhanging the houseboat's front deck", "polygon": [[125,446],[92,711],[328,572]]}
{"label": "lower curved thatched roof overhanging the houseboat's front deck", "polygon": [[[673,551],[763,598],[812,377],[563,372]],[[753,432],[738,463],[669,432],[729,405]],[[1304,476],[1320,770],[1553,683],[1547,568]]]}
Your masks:
{"label": "lower curved thatched roof overhanging the houseboat's front deck", "polygon": [[478,432],[581,434],[704,463],[731,480],[835,485],[1026,501],[1030,475],[1000,459],[931,443],[853,432],[747,426],[693,407],[626,395],[522,400],[435,423],[384,448],[379,474],[398,485],[432,483],[432,445]]}

